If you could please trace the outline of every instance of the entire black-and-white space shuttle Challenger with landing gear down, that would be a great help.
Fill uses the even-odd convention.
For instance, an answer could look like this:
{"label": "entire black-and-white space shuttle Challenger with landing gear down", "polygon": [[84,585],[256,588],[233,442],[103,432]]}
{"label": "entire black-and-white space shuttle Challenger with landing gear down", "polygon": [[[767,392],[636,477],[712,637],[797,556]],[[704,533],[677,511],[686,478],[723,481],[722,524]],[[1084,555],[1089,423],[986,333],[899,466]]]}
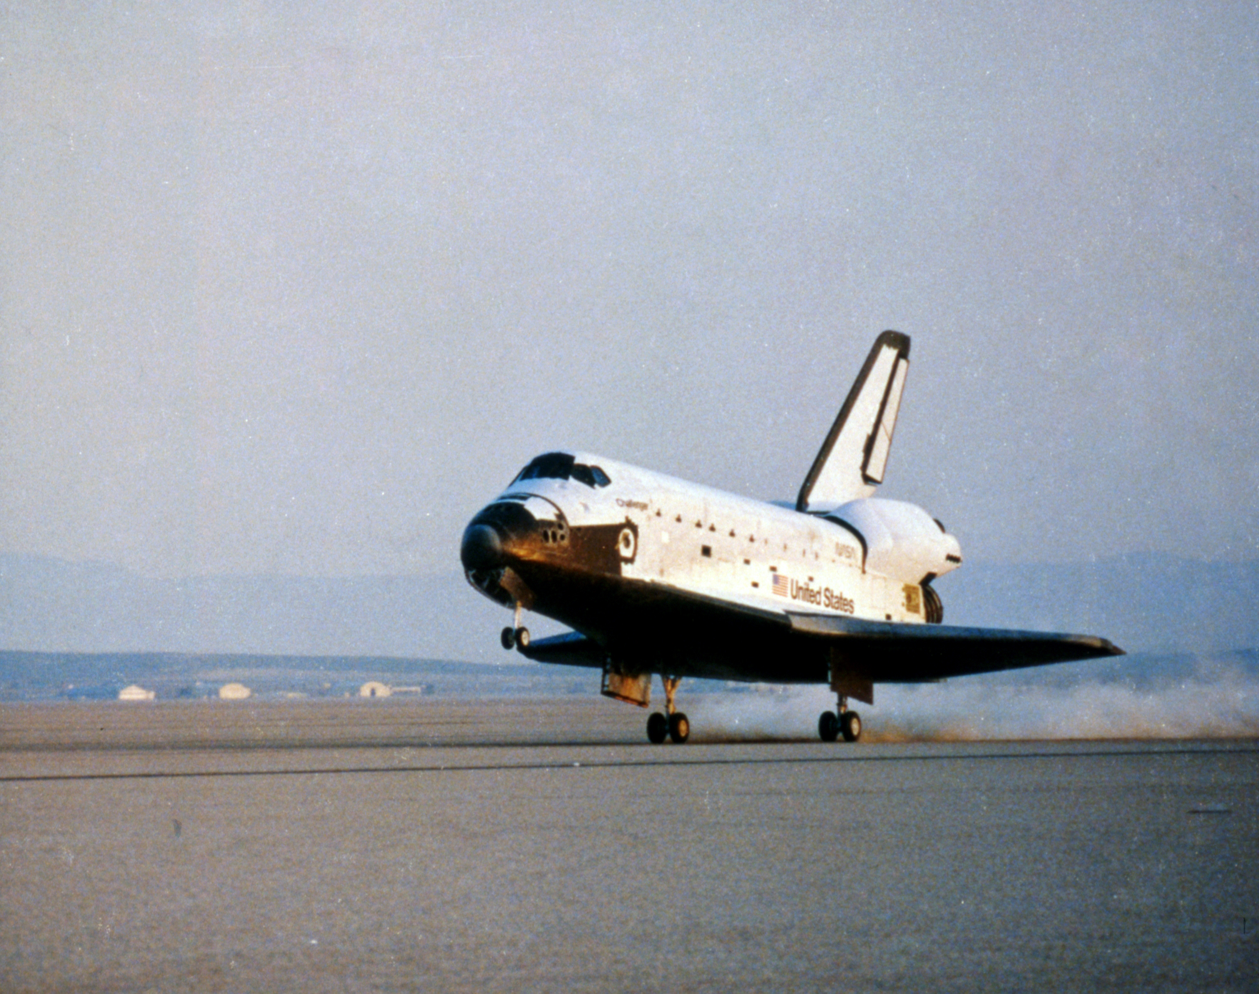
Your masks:
{"label": "entire black-and-white space shuttle Challenger with landing gear down", "polygon": [[[647,736],[686,741],[682,677],[828,683],[818,734],[861,734],[849,708],[874,684],[1122,654],[1094,635],[942,624],[933,581],[962,562],[923,508],[874,497],[909,372],[909,337],[883,332],[813,461],[794,510],[582,452],[534,458],[463,532],[468,581],[515,610],[505,648],[603,671],[642,707]],[[531,640],[521,611],[573,630]]]}

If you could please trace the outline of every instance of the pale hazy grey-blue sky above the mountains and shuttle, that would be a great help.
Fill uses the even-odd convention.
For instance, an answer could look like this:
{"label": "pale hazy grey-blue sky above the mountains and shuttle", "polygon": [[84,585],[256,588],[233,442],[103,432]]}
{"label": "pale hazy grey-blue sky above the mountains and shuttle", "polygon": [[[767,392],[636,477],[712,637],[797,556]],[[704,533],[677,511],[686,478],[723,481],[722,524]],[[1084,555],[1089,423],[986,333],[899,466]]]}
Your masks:
{"label": "pale hazy grey-blue sky above the mountains and shuttle", "polygon": [[0,11],[0,551],[451,570],[558,445],[793,498],[898,328],[969,556],[1255,556],[1255,5],[711,6]]}

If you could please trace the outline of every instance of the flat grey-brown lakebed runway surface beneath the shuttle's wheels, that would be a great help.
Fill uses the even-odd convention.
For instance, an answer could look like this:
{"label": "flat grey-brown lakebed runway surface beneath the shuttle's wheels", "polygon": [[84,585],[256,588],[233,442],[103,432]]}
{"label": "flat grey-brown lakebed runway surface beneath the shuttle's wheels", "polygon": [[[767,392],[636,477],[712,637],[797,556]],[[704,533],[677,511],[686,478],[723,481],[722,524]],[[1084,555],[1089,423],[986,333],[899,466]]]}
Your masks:
{"label": "flat grey-brown lakebed runway surface beneath the shuttle's wheels", "polygon": [[1253,740],[0,707],[0,989],[1255,990]]}

